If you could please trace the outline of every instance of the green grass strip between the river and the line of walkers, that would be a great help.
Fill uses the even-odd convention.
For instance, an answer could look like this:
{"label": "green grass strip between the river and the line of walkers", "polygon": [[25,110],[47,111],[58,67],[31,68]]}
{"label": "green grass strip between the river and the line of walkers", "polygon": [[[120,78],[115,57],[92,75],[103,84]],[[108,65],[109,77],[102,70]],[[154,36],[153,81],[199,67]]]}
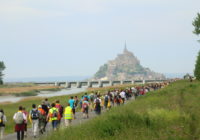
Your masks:
{"label": "green grass strip between the river and the line of walkers", "polygon": [[[127,87],[127,85],[124,85],[124,86],[114,86],[112,88],[125,88]],[[101,89],[95,89],[93,88],[92,90],[94,92],[96,91],[100,91],[100,93],[103,93],[104,91],[106,90],[109,90],[111,88],[101,88]],[[91,90],[90,90],[91,92]],[[77,95],[78,98],[80,99],[82,95],[84,95],[84,93],[77,93],[77,94],[73,94],[73,96]],[[65,95],[65,96],[56,96],[56,97],[51,97],[49,98],[49,102],[52,103],[52,102],[55,102],[55,100],[60,100],[60,103],[63,105],[63,106],[66,106],[66,101],[68,101],[68,99],[70,98],[71,95]],[[7,116],[7,120],[8,122],[6,123],[6,129],[5,129],[5,133],[8,134],[8,133],[13,133],[14,132],[14,121],[12,119],[13,115],[15,112],[17,112],[18,110],[18,107],[19,106],[24,106],[26,107],[26,110],[30,111],[31,110],[31,106],[33,103],[35,103],[36,105],[39,105],[41,104],[41,101],[43,100],[44,98],[39,98],[39,97],[31,97],[31,98],[27,98],[25,100],[22,100],[20,102],[17,102],[17,103],[0,103],[0,109],[3,109],[6,116]],[[28,124],[28,127],[30,127],[30,123]]]}

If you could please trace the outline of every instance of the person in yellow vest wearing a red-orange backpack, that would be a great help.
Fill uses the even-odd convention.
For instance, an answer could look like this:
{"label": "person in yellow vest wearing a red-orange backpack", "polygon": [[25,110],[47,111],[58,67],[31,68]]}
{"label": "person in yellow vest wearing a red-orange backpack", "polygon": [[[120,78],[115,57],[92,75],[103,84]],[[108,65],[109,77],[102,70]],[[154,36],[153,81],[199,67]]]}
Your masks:
{"label": "person in yellow vest wearing a red-orange backpack", "polygon": [[53,130],[57,130],[57,125],[58,125],[58,120],[60,119],[60,114],[59,114],[58,109],[55,107],[55,103],[51,104],[51,109],[49,110],[47,120],[49,118],[52,122]]}

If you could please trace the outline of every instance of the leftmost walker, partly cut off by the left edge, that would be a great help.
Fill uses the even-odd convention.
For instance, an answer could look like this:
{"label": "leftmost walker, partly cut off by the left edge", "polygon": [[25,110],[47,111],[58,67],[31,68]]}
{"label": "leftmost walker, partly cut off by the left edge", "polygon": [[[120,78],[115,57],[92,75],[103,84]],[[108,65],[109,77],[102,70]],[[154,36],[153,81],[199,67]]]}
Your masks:
{"label": "leftmost walker, partly cut off by the left edge", "polygon": [[3,139],[6,122],[6,115],[4,114],[3,109],[0,109],[0,140]]}

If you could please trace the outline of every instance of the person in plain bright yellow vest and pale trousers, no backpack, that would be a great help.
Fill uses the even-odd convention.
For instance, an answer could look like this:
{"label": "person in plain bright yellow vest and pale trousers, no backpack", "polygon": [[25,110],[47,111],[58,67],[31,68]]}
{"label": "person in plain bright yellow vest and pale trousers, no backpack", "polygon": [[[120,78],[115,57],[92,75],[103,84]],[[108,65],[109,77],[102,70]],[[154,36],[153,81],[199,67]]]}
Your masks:
{"label": "person in plain bright yellow vest and pale trousers, no backpack", "polygon": [[69,103],[67,107],[65,108],[64,119],[65,119],[65,126],[66,127],[70,126],[73,119],[73,111]]}

